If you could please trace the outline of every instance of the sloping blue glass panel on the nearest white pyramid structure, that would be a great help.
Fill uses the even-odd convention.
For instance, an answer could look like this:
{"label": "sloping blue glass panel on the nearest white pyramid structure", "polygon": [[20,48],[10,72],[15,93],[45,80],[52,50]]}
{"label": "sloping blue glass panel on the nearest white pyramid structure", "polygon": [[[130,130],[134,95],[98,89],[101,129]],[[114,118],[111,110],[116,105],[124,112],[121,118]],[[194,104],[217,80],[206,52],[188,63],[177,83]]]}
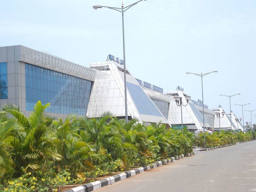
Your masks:
{"label": "sloping blue glass panel on the nearest white pyramid structure", "polygon": [[162,117],[140,86],[127,82],[127,88],[140,114]]}

